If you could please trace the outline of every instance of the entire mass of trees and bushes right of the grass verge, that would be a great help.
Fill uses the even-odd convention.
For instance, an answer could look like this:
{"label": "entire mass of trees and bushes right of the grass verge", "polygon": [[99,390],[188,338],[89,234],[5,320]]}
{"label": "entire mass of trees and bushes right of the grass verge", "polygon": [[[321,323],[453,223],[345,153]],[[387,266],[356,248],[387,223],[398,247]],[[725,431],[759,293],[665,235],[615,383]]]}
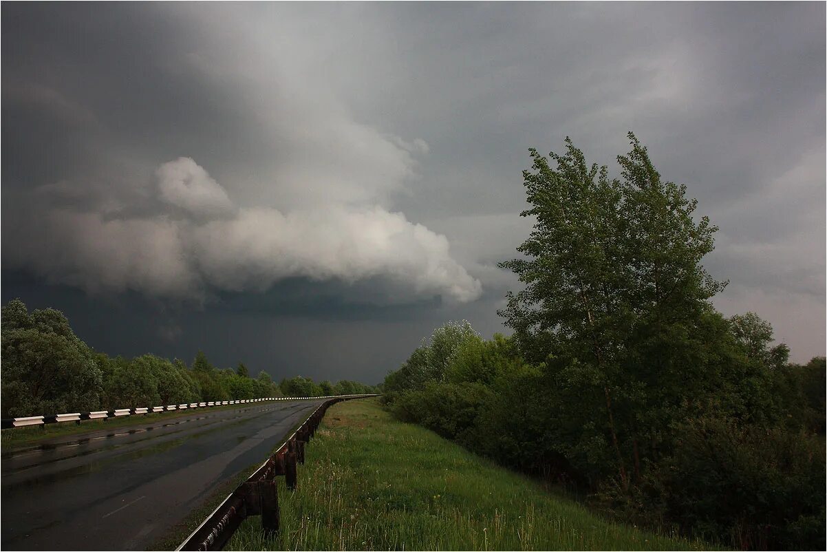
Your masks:
{"label": "entire mass of trees and bushes right of the grass verge", "polygon": [[788,362],[756,314],[726,319],[700,265],[716,228],[647,151],[622,179],[566,155],[524,173],[536,220],[501,266],[525,284],[510,338],[447,324],[384,401],[624,521],[739,549],[825,548],[825,358]]}

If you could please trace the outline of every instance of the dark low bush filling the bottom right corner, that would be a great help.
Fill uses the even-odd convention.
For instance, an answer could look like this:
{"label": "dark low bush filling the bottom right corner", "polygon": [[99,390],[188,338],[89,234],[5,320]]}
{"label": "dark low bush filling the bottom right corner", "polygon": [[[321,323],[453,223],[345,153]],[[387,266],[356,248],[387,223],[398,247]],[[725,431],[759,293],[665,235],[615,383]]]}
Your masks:
{"label": "dark low bush filling the bottom right corner", "polygon": [[641,485],[649,516],[742,550],[824,550],[823,439],[715,418],[676,432]]}

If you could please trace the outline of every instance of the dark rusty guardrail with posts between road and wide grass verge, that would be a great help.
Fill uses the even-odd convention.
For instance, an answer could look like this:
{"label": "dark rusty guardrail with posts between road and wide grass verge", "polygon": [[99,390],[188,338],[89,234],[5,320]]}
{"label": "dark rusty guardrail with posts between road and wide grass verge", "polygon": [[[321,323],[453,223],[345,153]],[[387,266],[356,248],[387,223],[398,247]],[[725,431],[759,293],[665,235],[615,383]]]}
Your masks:
{"label": "dark rusty guardrail with posts between road and wide grass verge", "polygon": [[339,401],[367,396],[376,395],[337,396],[324,401],[175,551],[222,550],[241,522],[249,516],[261,516],[261,528],[265,533],[274,535],[278,532],[279,493],[275,478],[284,476],[287,488],[293,490],[298,482],[297,464],[304,463],[304,447],[315,434],[327,408]]}

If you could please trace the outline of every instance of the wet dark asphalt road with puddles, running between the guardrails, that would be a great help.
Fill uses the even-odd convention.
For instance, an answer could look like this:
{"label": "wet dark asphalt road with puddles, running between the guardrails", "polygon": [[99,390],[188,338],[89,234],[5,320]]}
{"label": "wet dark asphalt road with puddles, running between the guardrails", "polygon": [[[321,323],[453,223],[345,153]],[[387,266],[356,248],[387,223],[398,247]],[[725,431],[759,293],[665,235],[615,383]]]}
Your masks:
{"label": "wet dark asphalt road with puddles, running between the guardrails", "polygon": [[275,401],[2,449],[2,550],[146,550],[323,401]]}

